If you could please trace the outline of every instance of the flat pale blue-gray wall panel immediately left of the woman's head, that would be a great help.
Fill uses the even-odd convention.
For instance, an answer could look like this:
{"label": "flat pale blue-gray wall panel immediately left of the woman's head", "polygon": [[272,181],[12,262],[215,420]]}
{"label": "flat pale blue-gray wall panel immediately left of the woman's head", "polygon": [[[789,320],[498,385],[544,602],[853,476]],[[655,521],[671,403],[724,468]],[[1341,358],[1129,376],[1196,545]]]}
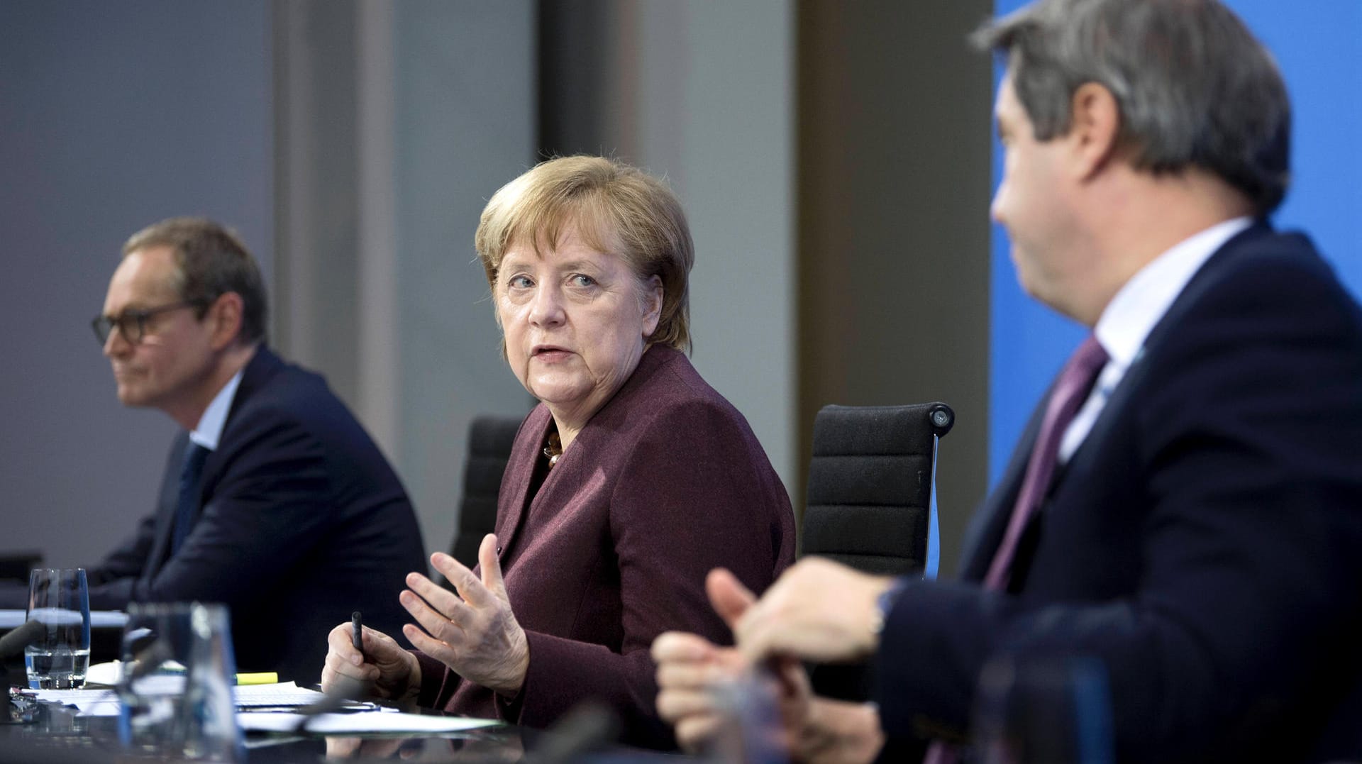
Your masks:
{"label": "flat pale blue-gray wall panel immediately left of the woman's head", "polygon": [[394,347],[402,474],[429,549],[448,549],[469,424],[523,415],[473,249],[492,193],[534,163],[534,4],[396,5]]}

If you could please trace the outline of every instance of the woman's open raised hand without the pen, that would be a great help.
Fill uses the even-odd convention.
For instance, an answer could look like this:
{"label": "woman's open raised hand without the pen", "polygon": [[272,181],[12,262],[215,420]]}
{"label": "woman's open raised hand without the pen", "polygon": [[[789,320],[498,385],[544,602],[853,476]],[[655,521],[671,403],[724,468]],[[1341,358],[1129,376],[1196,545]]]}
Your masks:
{"label": "woman's open raised hand without the pen", "polygon": [[441,552],[430,556],[430,564],[459,594],[421,573],[407,573],[411,588],[403,591],[399,599],[425,631],[407,624],[402,632],[417,650],[463,678],[505,696],[520,692],[530,669],[530,644],[511,613],[497,560],[497,537],[488,534],[478,547],[482,580]]}

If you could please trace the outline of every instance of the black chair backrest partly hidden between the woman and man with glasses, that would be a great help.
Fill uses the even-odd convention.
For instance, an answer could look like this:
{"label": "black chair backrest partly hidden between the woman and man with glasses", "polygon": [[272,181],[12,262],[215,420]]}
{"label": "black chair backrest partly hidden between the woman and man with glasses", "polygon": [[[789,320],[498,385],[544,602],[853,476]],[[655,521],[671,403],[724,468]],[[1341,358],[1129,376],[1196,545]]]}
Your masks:
{"label": "black chair backrest partly hidden between the woman and man with glasses", "polygon": [[484,415],[469,426],[469,456],[463,464],[459,527],[449,556],[467,567],[478,564],[478,545],[497,524],[497,494],[511,459],[519,417]]}

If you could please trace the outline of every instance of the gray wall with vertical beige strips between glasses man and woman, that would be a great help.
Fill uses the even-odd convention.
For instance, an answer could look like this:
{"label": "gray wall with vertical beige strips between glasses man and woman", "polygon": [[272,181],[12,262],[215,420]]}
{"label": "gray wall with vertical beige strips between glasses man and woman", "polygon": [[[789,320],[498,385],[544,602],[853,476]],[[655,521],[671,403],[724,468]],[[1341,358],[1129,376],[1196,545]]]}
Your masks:
{"label": "gray wall with vertical beige strips between glasses man and woman", "polygon": [[523,415],[473,232],[534,162],[528,0],[293,0],[279,39],[283,350],[323,370],[448,549],[478,414]]}

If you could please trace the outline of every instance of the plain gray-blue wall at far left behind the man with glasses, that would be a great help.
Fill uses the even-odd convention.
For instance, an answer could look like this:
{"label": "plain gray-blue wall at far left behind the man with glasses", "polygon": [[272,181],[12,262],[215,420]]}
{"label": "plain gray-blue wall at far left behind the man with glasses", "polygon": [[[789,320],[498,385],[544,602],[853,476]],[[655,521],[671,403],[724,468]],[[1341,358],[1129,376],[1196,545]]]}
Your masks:
{"label": "plain gray-blue wall at far left behind the man with glasses", "polygon": [[268,267],[268,30],[264,0],[0,4],[0,549],[89,564],[151,508],[174,425],[118,404],[89,321],[165,217]]}

